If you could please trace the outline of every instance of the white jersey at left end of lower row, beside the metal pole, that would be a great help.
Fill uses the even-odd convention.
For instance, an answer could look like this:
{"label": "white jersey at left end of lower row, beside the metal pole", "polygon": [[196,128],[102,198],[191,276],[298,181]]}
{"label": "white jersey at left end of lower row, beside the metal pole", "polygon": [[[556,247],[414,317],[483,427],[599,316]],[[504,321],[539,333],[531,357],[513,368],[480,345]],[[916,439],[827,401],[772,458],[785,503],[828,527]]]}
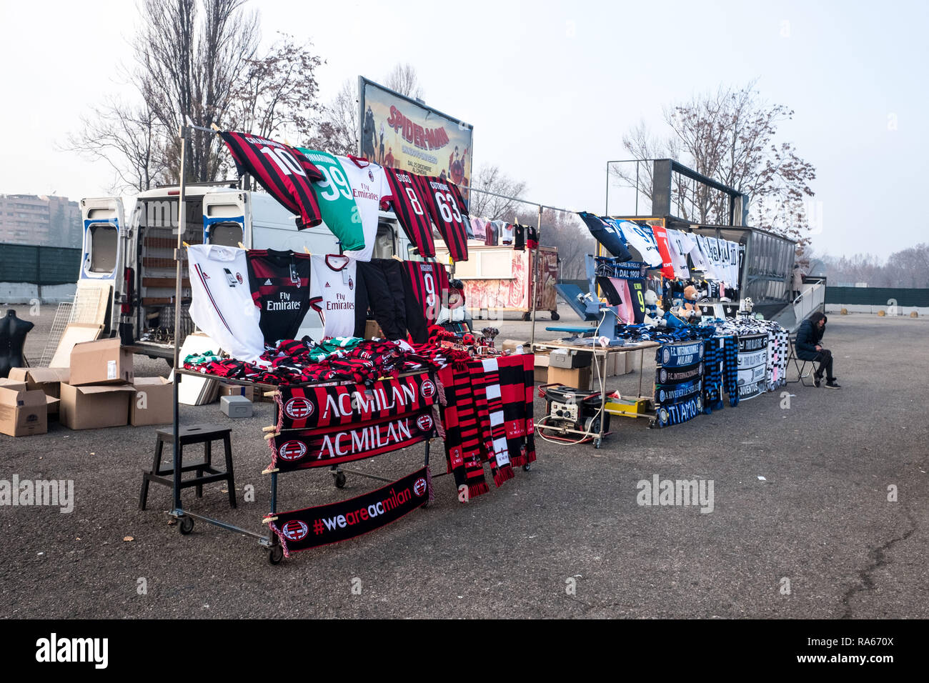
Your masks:
{"label": "white jersey at left end of lower row, beside the metal pole", "polygon": [[[245,250],[217,244],[187,249],[190,320],[238,361],[254,362],[265,352],[265,337],[248,286]],[[219,348],[211,349],[219,351]]]}

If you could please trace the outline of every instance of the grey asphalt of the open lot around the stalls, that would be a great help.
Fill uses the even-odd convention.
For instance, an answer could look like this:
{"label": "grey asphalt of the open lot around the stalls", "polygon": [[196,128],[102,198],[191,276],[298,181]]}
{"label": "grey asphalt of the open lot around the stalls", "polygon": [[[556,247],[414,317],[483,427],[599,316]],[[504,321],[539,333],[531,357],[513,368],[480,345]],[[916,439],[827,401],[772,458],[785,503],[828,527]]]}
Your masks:
{"label": "grey asphalt of the open lot around the stalls", "polygon": [[[53,316],[44,307],[33,319],[27,355],[41,352]],[[553,336],[547,318],[540,338]],[[561,324],[575,320],[562,310]],[[500,339],[529,336],[529,323],[495,326]],[[75,491],[71,514],[0,507],[0,616],[925,618],[927,335],[925,319],[833,315],[824,342],[841,391],[792,384],[665,429],[616,418],[600,450],[538,440],[532,470],[500,489],[488,478],[490,493],[461,504],[451,477],[436,479],[431,506],[278,566],[254,539],[202,521],[180,535],[164,487],[137,511],[154,427],[0,435],[0,479],[72,479]],[[167,367],[136,361],[138,375]],[[652,368],[647,354],[647,384]],[[232,427],[240,490],[231,510],[223,484],[203,499],[187,489],[191,512],[267,531],[270,420],[268,403],[244,420],[218,403],[181,407],[182,423]],[[349,467],[399,479],[422,458],[416,447]],[[713,511],[638,505],[636,482],[655,475],[712,480]],[[322,470],[280,481],[281,510],[380,486],[349,475],[339,491]],[[242,501],[246,486],[254,503]]]}

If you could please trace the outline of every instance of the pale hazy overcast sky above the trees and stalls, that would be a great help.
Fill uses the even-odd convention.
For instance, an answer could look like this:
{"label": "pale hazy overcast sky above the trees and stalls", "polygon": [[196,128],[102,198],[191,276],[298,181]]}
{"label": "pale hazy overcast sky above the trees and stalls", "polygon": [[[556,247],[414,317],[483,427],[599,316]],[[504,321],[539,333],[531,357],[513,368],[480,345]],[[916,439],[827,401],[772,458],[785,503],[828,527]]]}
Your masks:
{"label": "pale hazy overcast sky above the trees and stalls", "polygon": [[[498,164],[526,196],[604,210],[606,162],[662,107],[759,78],[794,110],[780,128],[814,164],[818,253],[886,257],[929,242],[926,2],[310,2],[252,0],[263,35],[286,31],[326,59],[329,100],[348,77],[398,62],[428,105],[475,126],[475,170]],[[131,2],[0,0],[6,135],[0,192],[72,199],[111,187],[111,169],[61,151],[89,106],[127,92]],[[611,213],[634,206],[610,201]],[[910,207],[910,204],[913,204]]]}

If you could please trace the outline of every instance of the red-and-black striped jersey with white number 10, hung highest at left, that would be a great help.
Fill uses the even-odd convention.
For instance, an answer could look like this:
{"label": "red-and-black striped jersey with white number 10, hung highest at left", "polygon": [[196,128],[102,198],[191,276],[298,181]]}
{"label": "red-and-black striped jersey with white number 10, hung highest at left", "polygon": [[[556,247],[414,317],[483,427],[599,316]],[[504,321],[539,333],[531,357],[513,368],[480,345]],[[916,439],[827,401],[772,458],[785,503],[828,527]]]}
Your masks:
{"label": "red-and-black striped jersey with white number 10, hung highest at left", "polygon": [[320,204],[311,182],[322,180],[320,169],[289,145],[247,133],[222,131],[219,135],[232,154],[239,175],[252,174],[292,214],[298,230],[322,222]]}

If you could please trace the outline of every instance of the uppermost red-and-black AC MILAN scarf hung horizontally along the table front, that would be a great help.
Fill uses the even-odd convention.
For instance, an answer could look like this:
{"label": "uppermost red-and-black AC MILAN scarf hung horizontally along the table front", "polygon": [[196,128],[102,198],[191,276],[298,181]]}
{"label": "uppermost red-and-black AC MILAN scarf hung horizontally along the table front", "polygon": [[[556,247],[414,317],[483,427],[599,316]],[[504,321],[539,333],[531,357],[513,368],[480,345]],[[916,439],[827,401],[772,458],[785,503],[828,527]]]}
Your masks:
{"label": "uppermost red-and-black AC MILAN scarf hung horizontally along the table front", "polygon": [[379,380],[370,388],[360,384],[281,387],[274,401],[278,431],[314,429],[419,413],[436,401],[436,385],[424,373]]}

